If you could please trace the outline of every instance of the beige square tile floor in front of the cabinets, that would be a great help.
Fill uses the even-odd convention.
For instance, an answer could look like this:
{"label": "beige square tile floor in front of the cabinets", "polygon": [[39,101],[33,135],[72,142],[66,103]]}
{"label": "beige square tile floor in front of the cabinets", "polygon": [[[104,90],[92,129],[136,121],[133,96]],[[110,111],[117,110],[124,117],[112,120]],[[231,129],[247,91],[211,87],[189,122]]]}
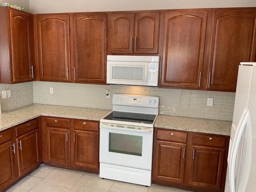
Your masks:
{"label": "beige square tile floor in front of the cabinets", "polygon": [[188,192],[152,184],[150,187],[102,179],[98,174],[42,164],[6,192]]}

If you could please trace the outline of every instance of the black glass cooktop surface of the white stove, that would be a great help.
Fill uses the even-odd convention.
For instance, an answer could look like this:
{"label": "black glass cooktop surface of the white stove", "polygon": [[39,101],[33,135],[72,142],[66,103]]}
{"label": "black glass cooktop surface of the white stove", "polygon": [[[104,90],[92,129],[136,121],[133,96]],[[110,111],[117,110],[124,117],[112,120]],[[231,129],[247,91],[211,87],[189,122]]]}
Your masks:
{"label": "black glass cooktop surface of the white stove", "polygon": [[156,115],[113,111],[104,119],[152,124]]}

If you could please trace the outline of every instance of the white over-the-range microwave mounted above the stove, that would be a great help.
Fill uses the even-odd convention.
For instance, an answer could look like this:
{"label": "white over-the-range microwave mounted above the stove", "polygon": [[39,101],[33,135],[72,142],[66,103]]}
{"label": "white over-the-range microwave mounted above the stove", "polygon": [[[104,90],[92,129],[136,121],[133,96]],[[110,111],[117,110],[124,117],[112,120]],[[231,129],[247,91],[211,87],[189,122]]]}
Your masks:
{"label": "white over-the-range microwave mounted above the stove", "polygon": [[107,56],[107,83],[158,86],[159,56]]}

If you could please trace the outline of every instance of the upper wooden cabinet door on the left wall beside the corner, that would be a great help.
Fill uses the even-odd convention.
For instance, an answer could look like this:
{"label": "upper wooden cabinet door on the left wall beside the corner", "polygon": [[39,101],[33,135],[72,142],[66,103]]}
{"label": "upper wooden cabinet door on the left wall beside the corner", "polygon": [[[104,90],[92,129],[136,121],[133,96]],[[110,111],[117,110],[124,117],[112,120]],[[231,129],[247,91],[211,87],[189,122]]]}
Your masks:
{"label": "upper wooden cabinet door on the left wall beside the corner", "polygon": [[11,76],[14,83],[32,80],[33,16],[10,9]]}

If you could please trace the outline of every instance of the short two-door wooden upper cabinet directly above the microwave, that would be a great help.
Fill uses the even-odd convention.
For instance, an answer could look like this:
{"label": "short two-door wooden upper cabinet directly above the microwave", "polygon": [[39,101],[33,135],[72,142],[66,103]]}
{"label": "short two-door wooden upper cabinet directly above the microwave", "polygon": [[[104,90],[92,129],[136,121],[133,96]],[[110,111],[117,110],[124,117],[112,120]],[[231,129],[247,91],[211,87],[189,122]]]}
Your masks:
{"label": "short two-door wooden upper cabinet directly above the microwave", "polygon": [[158,54],[160,12],[111,13],[108,54]]}

